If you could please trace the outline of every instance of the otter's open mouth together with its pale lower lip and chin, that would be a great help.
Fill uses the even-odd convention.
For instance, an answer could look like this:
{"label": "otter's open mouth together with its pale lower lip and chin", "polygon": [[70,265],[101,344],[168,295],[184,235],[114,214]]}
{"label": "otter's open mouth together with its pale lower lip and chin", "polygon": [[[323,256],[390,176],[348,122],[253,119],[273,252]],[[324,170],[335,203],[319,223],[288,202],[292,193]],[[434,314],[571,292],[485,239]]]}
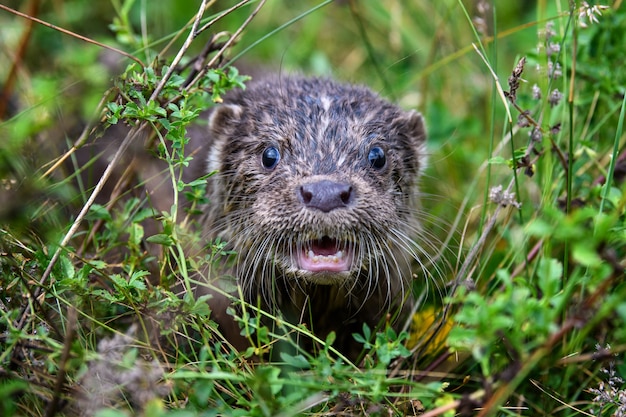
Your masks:
{"label": "otter's open mouth together with its pale lower lip and chin", "polygon": [[349,275],[353,253],[346,242],[324,236],[294,252],[294,264],[311,281],[338,281]]}

